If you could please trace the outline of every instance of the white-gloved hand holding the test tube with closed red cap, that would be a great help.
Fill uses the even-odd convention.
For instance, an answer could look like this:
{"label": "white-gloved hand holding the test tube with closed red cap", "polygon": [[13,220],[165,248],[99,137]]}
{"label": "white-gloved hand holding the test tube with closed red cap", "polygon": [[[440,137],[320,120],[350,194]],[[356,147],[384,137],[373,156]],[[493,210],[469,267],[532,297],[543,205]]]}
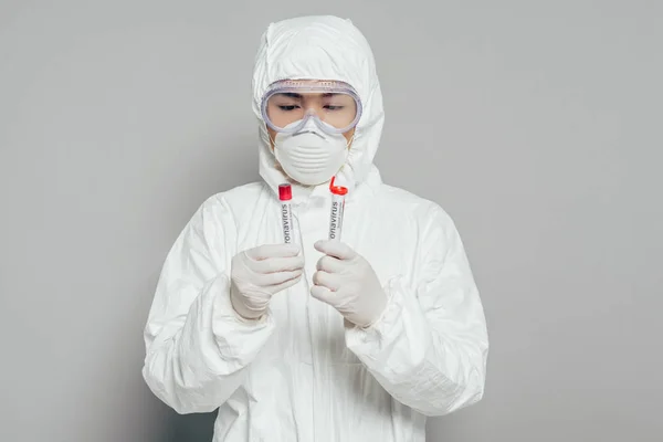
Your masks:
{"label": "white-gloved hand holding the test tube with closed red cap", "polygon": [[304,256],[297,244],[266,244],[234,255],[230,301],[245,319],[260,318],[270,299],[302,278]]}

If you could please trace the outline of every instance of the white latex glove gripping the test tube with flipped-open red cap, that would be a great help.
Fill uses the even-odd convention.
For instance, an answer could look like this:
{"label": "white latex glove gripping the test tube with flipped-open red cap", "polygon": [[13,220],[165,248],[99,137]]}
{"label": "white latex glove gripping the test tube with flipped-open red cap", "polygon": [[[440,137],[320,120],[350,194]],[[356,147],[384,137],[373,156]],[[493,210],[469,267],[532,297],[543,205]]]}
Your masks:
{"label": "white latex glove gripping the test tube with flipped-open red cap", "polygon": [[311,295],[360,327],[375,323],[387,307],[387,294],[371,265],[340,241],[318,241],[325,256],[317,263]]}

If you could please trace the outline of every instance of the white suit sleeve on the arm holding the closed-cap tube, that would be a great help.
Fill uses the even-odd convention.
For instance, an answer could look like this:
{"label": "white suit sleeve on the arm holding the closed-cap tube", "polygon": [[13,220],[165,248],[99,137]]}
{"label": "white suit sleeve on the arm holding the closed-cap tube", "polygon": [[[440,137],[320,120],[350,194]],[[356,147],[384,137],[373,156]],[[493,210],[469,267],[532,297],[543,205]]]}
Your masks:
{"label": "white suit sleeve on the arm holding the closed-cap tube", "polygon": [[235,235],[222,196],[208,199],[176,240],[159,276],[144,332],[143,377],[181,414],[225,402],[274,328],[269,315],[246,322],[232,308],[228,256]]}

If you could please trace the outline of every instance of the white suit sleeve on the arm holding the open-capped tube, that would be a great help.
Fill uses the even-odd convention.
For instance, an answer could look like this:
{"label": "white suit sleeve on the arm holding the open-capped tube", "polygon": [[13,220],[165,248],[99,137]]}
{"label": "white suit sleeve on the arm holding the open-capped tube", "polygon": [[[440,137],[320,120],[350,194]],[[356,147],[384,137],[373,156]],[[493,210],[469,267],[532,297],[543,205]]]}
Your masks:
{"label": "white suit sleeve on the arm holding the open-capped tube", "polygon": [[432,417],[482,399],[488,337],[453,221],[438,206],[423,219],[414,276],[391,278],[380,319],[348,328],[346,343],[393,398]]}

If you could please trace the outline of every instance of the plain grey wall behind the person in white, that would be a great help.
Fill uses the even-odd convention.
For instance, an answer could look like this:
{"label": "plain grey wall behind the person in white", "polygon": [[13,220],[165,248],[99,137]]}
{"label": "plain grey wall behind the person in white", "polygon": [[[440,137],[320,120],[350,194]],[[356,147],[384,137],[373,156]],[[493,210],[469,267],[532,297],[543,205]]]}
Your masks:
{"label": "plain grey wall behind the person in white", "polygon": [[203,442],[140,377],[162,260],[257,179],[270,21],[350,17],[387,182],[455,219],[485,399],[430,441],[661,441],[661,1],[0,2],[0,440]]}

